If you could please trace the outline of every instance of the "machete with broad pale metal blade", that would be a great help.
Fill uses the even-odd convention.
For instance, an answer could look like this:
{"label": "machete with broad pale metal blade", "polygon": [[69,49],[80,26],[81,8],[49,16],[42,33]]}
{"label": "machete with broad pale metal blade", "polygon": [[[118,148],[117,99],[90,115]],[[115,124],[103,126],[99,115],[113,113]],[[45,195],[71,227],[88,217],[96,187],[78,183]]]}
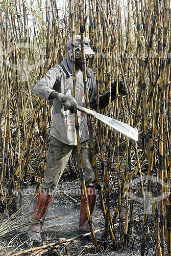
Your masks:
{"label": "machete with broad pale metal blade", "polygon": [[84,108],[84,106],[77,106],[77,109],[81,112],[84,112],[87,115],[94,116],[95,118],[101,120],[102,122],[108,124],[109,126],[113,127],[116,131],[123,133],[124,135],[130,137],[133,140],[138,140],[138,130],[137,128],[134,128],[130,126],[127,123],[120,122],[116,119],[113,119],[111,117],[99,114],[93,110]]}

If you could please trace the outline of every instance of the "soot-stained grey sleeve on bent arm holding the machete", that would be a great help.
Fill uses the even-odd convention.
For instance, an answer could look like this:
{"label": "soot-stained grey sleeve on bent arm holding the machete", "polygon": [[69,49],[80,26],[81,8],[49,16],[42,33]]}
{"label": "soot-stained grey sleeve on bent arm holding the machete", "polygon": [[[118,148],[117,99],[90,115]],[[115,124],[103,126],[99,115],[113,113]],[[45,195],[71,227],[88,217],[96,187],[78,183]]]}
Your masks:
{"label": "soot-stained grey sleeve on bent arm holding the machete", "polygon": [[50,94],[55,91],[53,87],[60,78],[61,71],[58,68],[48,70],[46,75],[35,84],[33,92],[42,99],[48,99]]}

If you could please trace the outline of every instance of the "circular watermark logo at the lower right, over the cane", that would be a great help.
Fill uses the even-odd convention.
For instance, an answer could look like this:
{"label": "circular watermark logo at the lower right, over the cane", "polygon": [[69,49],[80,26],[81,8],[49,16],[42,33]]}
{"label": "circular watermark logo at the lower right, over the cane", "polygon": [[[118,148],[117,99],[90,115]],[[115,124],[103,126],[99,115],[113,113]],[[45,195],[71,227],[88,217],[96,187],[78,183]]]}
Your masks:
{"label": "circular watermark logo at the lower right, over the cane", "polygon": [[[142,181],[144,181],[144,182],[151,181],[153,183],[156,183],[156,185],[157,185],[157,183],[160,184],[160,185],[163,185],[163,188],[164,187],[168,188],[168,184],[165,181],[161,180],[160,178],[156,178],[156,177],[153,177],[153,176],[150,176],[150,175],[142,176]],[[140,182],[141,182],[140,177],[135,178],[131,183],[129,182],[126,185],[126,189],[129,190],[130,187],[133,188],[137,184],[140,184]],[[139,203],[144,203],[144,214],[148,214],[149,206],[152,205],[153,202],[157,203],[157,202],[163,200],[164,198],[169,196],[170,192],[165,192],[164,191],[161,195],[155,196],[154,193],[152,193],[152,191],[146,191],[145,187],[143,186],[143,197],[137,196],[137,194],[138,194],[137,190],[134,193],[128,191],[128,197],[129,198],[131,198],[132,200],[135,200]]]}

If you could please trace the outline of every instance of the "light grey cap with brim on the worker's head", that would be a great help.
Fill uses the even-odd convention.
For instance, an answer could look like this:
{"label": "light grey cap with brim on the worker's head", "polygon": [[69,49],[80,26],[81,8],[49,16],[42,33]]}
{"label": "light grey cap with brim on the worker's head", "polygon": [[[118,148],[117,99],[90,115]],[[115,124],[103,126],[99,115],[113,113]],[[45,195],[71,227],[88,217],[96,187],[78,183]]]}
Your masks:
{"label": "light grey cap with brim on the worker's head", "polygon": [[[75,51],[78,49],[81,51],[81,36],[75,35]],[[72,38],[71,37],[68,39],[67,52],[70,58],[72,55]],[[84,52],[85,54],[95,54],[90,47],[90,39],[88,37],[84,37]]]}

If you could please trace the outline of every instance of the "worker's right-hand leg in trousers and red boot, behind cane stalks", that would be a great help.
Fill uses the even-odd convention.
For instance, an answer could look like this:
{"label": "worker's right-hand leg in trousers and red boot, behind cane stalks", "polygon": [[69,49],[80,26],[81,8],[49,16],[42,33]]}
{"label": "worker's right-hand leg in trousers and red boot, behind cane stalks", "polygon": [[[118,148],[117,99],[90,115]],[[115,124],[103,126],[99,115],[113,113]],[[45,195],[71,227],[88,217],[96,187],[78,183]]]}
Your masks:
{"label": "worker's right-hand leg in trousers and red boot, behind cane stalks", "polygon": [[[85,141],[81,143],[81,151],[82,151],[82,162],[83,162],[83,170],[85,175],[85,184],[87,197],[89,202],[89,209],[91,217],[93,215],[93,210],[96,201],[96,182],[95,182],[95,174],[92,167],[92,156],[89,141]],[[79,155],[77,148],[74,147],[72,153],[75,155],[77,164],[80,166]],[[80,224],[79,224],[80,232],[88,232],[90,230],[90,226],[87,220],[87,212],[86,212],[86,204],[84,200],[84,191],[82,190],[81,196],[81,210],[80,210]]]}

